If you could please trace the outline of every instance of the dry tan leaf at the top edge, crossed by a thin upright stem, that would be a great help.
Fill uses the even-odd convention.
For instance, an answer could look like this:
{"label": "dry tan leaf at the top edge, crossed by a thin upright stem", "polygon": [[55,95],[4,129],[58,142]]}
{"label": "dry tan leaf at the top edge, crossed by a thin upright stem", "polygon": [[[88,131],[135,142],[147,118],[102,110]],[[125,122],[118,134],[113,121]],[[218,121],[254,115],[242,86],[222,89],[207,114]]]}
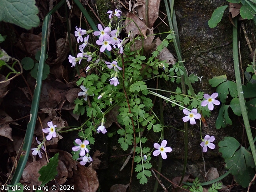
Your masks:
{"label": "dry tan leaf at the top edge, crossed by a thin upright stem", "polygon": [[[134,10],[138,13],[138,18],[142,19],[146,24],[146,0],[136,0],[137,3],[133,5]],[[160,0],[148,0],[148,27],[153,27],[155,21],[158,18],[158,11],[160,6]]]}

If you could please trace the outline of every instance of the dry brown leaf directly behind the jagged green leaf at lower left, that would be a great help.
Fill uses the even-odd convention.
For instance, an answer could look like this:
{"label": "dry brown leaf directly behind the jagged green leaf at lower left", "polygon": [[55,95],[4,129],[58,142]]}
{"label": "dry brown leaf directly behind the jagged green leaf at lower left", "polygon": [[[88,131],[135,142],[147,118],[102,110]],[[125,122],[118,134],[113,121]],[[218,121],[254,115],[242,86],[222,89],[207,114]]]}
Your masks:
{"label": "dry brown leaf directly behind the jagged green leaf at lower left", "polygon": [[40,174],[38,171],[41,169],[42,166],[47,165],[46,159],[41,159],[39,161],[34,161],[27,165],[22,173],[22,181],[21,184],[28,185],[31,188],[31,192],[33,191],[33,186],[41,185],[41,181],[38,181],[38,177]]}

